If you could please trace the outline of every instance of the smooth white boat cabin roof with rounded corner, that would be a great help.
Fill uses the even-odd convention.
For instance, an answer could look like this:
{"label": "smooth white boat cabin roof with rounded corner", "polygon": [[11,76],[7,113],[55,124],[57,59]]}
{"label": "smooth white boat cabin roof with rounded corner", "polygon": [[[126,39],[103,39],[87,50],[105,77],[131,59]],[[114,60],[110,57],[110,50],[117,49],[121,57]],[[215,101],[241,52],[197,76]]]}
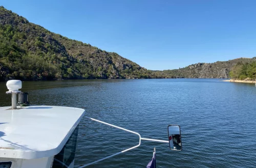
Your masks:
{"label": "smooth white boat cabin roof with rounded corner", "polygon": [[84,109],[62,106],[0,107],[0,157],[36,159],[58,154]]}

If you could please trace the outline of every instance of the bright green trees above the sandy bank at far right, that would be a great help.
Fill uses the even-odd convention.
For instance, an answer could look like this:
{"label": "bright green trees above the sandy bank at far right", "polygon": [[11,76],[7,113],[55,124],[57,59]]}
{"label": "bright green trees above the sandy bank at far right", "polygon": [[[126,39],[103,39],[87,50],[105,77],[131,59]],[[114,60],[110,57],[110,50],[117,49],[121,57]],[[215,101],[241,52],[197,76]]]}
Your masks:
{"label": "bright green trees above the sandy bank at far right", "polygon": [[232,79],[250,79],[256,80],[256,57],[252,58],[254,61],[250,63],[239,62],[236,66],[232,67],[230,77]]}

